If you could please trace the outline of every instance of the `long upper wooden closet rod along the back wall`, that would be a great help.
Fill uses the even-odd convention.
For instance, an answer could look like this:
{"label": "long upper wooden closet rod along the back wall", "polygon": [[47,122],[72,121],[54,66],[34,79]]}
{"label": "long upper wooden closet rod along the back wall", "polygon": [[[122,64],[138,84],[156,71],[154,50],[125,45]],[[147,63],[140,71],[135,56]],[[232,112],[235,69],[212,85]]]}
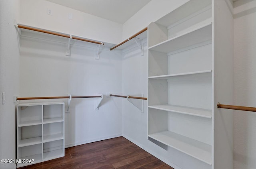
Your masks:
{"label": "long upper wooden closet rod along the back wall", "polygon": [[51,35],[57,35],[57,36],[62,36],[62,37],[67,37],[67,38],[71,37],[72,39],[76,39],[76,40],[80,40],[80,41],[86,41],[86,42],[90,42],[90,43],[96,43],[96,44],[99,44],[99,45],[104,45],[104,43],[102,43],[102,42],[92,41],[92,40],[88,40],[88,39],[84,39],[84,38],[80,38],[80,37],[74,37],[73,35],[70,36],[70,35],[63,34],[63,33],[57,33],[57,32],[54,32],[54,31],[48,31],[48,30],[33,28],[33,27],[30,27],[30,26],[18,25],[18,28],[28,29],[28,30],[32,30],[32,31],[39,31],[39,32],[42,32],[42,33],[48,33],[48,34],[51,34]]}

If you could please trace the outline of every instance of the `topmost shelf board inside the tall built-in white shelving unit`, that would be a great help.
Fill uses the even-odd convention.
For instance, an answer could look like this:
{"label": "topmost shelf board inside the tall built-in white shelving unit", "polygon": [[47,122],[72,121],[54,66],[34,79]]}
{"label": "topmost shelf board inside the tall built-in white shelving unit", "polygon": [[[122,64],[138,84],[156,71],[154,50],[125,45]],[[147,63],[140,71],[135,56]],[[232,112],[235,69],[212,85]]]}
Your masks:
{"label": "topmost shelf board inside the tall built-in white shelving unit", "polygon": [[149,50],[168,53],[212,39],[212,22],[158,43]]}

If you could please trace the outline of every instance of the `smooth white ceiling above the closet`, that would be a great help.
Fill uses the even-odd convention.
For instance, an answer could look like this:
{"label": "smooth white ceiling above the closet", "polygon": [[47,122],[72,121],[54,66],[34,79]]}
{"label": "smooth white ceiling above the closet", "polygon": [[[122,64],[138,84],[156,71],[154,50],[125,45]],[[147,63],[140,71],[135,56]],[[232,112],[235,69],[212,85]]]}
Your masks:
{"label": "smooth white ceiling above the closet", "polygon": [[47,0],[100,18],[124,24],[150,0]]}

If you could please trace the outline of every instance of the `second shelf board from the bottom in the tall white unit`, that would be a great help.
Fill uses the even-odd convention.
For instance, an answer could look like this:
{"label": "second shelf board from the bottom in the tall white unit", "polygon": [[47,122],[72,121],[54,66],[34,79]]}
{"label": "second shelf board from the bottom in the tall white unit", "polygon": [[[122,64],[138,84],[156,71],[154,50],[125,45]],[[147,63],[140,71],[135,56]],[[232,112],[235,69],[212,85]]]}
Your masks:
{"label": "second shelf board from the bottom in the tall white unit", "polygon": [[165,110],[168,112],[176,112],[181,114],[188,114],[191,116],[199,116],[203,118],[212,118],[212,110],[202,109],[202,108],[175,106],[171,104],[152,105],[152,106],[148,106],[148,108],[154,108],[158,110]]}

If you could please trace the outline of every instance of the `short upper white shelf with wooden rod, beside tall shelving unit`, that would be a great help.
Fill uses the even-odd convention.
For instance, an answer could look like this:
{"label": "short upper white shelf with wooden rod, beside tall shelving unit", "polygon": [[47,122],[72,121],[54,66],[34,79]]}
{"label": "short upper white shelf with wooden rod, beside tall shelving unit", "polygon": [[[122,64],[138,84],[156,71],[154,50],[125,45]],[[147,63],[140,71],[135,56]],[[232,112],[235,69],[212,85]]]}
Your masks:
{"label": "short upper white shelf with wooden rod, beside tall shelving unit", "polygon": [[[148,27],[142,29],[141,31],[139,31],[139,32],[135,33],[134,35],[132,35],[131,37],[129,37],[128,39],[126,39],[126,40],[122,41],[121,43],[111,47],[110,51],[112,51],[113,49],[116,49],[116,48],[124,49],[124,48],[126,48],[126,47],[128,47],[132,44],[135,44],[135,43],[137,43],[137,45],[139,45],[138,40],[145,39],[148,36],[148,31],[147,30],[148,30]],[[133,39],[133,38],[135,38],[135,39]]]}

